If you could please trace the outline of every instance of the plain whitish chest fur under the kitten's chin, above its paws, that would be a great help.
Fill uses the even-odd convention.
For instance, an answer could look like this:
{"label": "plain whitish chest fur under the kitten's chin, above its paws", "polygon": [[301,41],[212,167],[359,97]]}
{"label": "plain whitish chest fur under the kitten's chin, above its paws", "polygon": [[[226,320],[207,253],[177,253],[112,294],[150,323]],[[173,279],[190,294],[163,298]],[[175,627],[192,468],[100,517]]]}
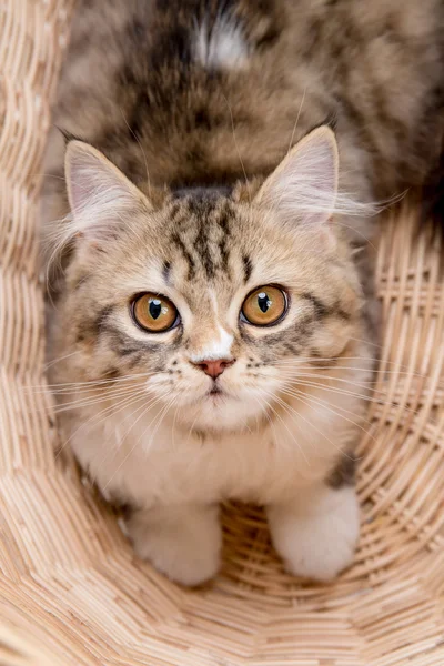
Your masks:
{"label": "plain whitish chest fur under the kitten's chin, above its paws", "polygon": [[290,403],[261,430],[218,436],[188,433],[173,416],[161,421],[160,410],[143,417],[117,411],[94,426],[84,413],[72,444],[105,496],[138,506],[232,497],[269,504],[324,478],[355,436],[357,397],[322,391],[313,400],[297,412]]}

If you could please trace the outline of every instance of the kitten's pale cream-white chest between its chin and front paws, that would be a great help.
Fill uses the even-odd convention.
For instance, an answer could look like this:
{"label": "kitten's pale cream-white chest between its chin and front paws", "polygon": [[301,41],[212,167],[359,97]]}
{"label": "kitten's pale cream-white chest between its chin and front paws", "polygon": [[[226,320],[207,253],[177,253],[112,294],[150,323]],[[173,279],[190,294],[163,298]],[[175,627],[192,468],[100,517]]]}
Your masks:
{"label": "kitten's pale cream-white chest between its chin and front paws", "polygon": [[142,506],[279,501],[322,476],[337,454],[322,455],[310,430],[284,420],[263,431],[202,437],[171,423],[149,428],[143,420],[128,432],[122,417],[111,416],[88,437],[74,436],[73,447],[105,495]]}

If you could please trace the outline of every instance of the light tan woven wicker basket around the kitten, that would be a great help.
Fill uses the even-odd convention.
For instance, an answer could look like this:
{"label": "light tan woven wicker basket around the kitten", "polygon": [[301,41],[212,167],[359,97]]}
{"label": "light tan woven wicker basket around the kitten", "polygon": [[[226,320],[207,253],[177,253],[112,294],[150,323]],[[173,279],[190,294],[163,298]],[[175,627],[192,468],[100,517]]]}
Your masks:
{"label": "light tan woven wicker basket around the kitten", "polygon": [[444,289],[414,216],[384,223],[384,341],[361,445],[362,538],[329,586],[284,574],[260,509],[224,512],[200,591],[137,562],[54,455],[36,218],[70,0],[0,0],[0,664],[444,665]]}

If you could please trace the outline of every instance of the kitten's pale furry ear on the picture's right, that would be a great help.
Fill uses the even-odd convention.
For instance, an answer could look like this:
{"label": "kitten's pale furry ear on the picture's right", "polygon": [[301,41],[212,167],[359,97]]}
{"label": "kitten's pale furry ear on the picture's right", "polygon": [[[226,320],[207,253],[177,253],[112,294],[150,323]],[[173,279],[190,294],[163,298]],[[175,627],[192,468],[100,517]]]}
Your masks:
{"label": "kitten's pale furry ear on the picture's right", "polygon": [[337,179],[336,140],[325,125],[289,152],[263,183],[255,203],[285,224],[319,229],[334,212]]}

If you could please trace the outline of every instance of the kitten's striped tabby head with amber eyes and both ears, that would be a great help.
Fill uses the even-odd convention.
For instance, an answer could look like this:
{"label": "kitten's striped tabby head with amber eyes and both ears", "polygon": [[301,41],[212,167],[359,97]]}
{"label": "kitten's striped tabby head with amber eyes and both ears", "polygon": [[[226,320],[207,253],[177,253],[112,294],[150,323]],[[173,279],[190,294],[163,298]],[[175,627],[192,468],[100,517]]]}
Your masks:
{"label": "kitten's striped tabby head with amber eyes and both ears", "polygon": [[150,196],[78,141],[65,172],[74,251],[58,306],[79,377],[122,382],[122,398],[131,377],[178,424],[232,431],[360,337],[330,129],[230,195]]}

